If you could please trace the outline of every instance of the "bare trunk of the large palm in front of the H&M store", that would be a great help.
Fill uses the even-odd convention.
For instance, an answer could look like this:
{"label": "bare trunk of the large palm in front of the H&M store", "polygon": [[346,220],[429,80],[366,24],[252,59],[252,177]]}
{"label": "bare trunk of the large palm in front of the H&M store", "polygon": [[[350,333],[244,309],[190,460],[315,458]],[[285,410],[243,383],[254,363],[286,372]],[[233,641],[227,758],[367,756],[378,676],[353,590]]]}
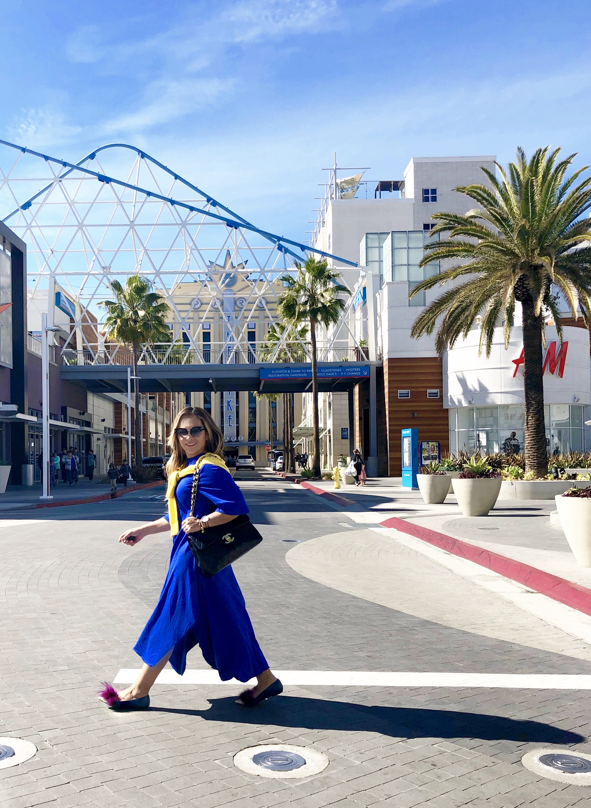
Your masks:
{"label": "bare trunk of the large palm in front of the H&M store", "polygon": [[523,318],[523,393],[526,403],[526,471],[546,476],[548,455],[544,423],[542,365],[542,318],[536,317],[534,301],[521,301]]}

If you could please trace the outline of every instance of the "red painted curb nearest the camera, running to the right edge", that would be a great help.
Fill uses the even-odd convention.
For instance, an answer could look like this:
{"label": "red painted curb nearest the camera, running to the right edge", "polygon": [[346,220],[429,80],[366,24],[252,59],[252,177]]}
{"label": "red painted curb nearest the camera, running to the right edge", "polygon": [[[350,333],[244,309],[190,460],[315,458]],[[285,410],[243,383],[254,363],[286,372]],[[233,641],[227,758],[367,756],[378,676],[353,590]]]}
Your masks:
{"label": "red painted curb nearest the camera, running to the right edge", "polygon": [[445,533],[438,533],[418,524],[398,519],[396,516],[390,516],[390,519],[379,524],[384,528],[394,528],[401,533],[407,533],[416,539],[426,541],[429,545],[444,549],[447,553],[475,562],[479,566],[485,566],[488,570],[504,575],[504,578],[523,583],[541,595],[547,595],[552,600],[558,600],[561,604],[591,616],[591,590],[581,587],[577,583],[559,578],[544,570],[538,570],[534,566],[515,561],[513,558],[492,553],[482,547],[469,545],[466,541],[445,536]]}

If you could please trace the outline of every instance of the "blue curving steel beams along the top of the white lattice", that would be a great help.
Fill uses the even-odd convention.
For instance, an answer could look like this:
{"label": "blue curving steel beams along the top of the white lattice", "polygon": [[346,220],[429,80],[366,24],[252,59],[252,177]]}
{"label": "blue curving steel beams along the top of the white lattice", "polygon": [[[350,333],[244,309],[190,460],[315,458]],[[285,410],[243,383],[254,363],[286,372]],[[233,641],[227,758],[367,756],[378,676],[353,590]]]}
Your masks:
{"label": "blue curving steel beams along the top of the white lattice", "polygon": [[[66,171],[64,175],[61,175],[59,179],[64,179],[65,176],[70,175],[73,171],[82,171],[84,174],[95,177],[95,179],[99,180],[99,182],[101,183],[107,183],[107,184],[112,183],[113,185],[119,185],[120,187],[129,188],[129,190],[131,191],[137,191],[138,193],[145,194],[146,196],[154,197],[154,199],[156,200],[174,205],[177,208],[184,208],[185,210],[188,210],[190,213],[201,213],[203,216],[217,219],[217,221],[222,222],[222,224],[226,225],[226,227],[232,227],[235,229],[243,228],[245,230],[251,231],[251,233],[259,234],[263,238],[266,238],[268,241],[275,243],[277,246],[277,250],[286,253],[288,255],[291,255],[294,259],[298,261],[301,260],[302,257],[293,253],[293,251],[289,250],[289,247],[285,245],[289,244],[291,246],[296,247],[298,250],[301,250],[301,252],[304,255],[306,255],[306,253],[312,252],[316,253],[317,255],[321,255],[323,258],[330,258],[339,261],[340,263],[346,263],[348,264],[349,267],[357,267],[357,263],[353,261],[348,261],[348,259],[340,258],[340,256],[338,255],[332,255],[331,253],[324,252],[323,250],[317,250],[315,247],[306,246],[301,242],[295,242],[290,238],[285,238],[285,236],[277,236],[276,234],[269,233],[267,230],[261,230],[260,228],[255,227],[255,225],[251,225],[250,222],[246,221],[242,217],[239,217],[238,214],[230,211],[230,208],[226,208],[224,205],[216,202],[215,200],[213,200],[213,197],[209,196],[209,194],[205,194],[199,188],[189,183],[188,180],[184,179],[180,175],[175,174],[175,172],[171,171],[169,168],[167,168],[167,166],[163,166],[162,163],[158,162],[157,160],[154,160],[154,158],[151,158],[150,155],[146,154],[146,152],[142,151],[141,149],[137,149],[135,146],[120,143],[113,143],[109,145],[99,146],[98,149],[92,151],[90,154],[87,155],[87,157],[82,158],[82,160],[79,163],[74,164],[68,162],[67,160],[59,160],[57,158],[53,158],[49,154],[41,154],[40,152],[36,152],[33,149],[27,149],[26,146],[20,146],[15,143],[11,143],[10,141],[0,140],[0,144],[9,146],[11,149],[18,149],[19,151],[23,152],[23,154],[32,154],[34,157],[41,158],[46,162],[57,163],[57,165],[59,166],[68,168],[69,170]],[[118,147],[124,149],[132,149],[137,154],[139,154],[141,158],[149,158],[152,162],[154,162],[155,165],[167,171],[167,173],[170,174],[172,177],[178,179],[180,182],[184,183],[188,187],[191,187],[192,190],[200,193],[201,196],[205,196],[205,199],[207,200],[208,204],[215,204],[216,207],[222,208],[222,210],[225,210],[226,213],[230,213],[233,217],[236,217],[240,221],[235,221],[234,219],[220,216],[217,213],[212,213],[211,211],[204,210],[203,208],[196,208],[194,205],[190,205],[187,204],[186,202],[181,202],[179,200],[174,200],[169,196],[163,196],[162,194],[158,194],[155,191],[148,191],[146,188],[141,188],[137,185],[133,185],[132,183],[125,183],[122,179],[116,179],[116,177],[110,177],[108,175],[100,174],[98,171],[93,171],[90,168],[84,168],[81,165],[82,162],[94,158],[95,154],[97,154],[97,152],[99,151],[102,151],[103,149],[114,149]],[[9,219],[11,219],[11,217],[15,216],[15,214],[18,213],[19,210],[27,210],[28,208],[30,208],[33,201],[36,200],[38,196],[41,196],[41,194],[43,194],[45,191],[48,191],[49,188],[52,187],[52,185],[53,183],[49,183],[49,185],[44,187],[41,191],[38,191],[26,202],[23,202],[23,204],[19,205],[19,208],[15,208],[15,210],[9,213],[8,216],[2,219],[2,221],[7,222]]]}

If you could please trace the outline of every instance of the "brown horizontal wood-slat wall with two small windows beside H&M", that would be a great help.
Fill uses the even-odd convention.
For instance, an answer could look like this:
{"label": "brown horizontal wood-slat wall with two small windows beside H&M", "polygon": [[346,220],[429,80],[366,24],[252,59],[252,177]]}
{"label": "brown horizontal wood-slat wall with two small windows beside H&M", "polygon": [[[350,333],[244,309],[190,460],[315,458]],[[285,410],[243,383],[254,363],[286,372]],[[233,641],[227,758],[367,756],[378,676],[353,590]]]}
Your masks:
{"label": "brown horizontal wood-slat wall with two small windows beside H&M", "polygon": [[[390,477],[402,474],[400,431],[418,429],[419,440],[438,440],[441,452],[450,449],[450,423],[443,409],[443,369],[432,356],[384,360],[386,427]],[[411,398],[398,398],[399,390],[411,391]],[[439,398],[427,398],[428,389],[438,389]],[[415,414],[416,413],[416,417]]]}

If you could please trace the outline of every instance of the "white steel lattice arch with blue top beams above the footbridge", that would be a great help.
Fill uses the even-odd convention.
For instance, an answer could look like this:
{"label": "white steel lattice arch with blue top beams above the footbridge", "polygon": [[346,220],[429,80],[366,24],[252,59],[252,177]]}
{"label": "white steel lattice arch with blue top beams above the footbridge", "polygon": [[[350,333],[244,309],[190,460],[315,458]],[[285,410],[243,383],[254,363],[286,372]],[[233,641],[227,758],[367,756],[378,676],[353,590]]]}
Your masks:
{"label": "white steel lattice arch with blue top beams above the footbridge", "polygon": [[[146,347],[142,364],[201,364],[230,352],[234,361],[249,361],[251,312],[264,309],[273,322],[277,278],[310,253],[351,269],[344,271],[352,292],[347,310],[322,336],[319,359],[353,359],[359,351],[352,304],[365,276],[357,264],[255,227],[134,146],[101,146],[74,164],[0,141],[0,217],[27,243],[29,289],[47,290],[49,325],[56,291],[74,302],[74,327],[62,347],[70,363],[130,364],[125,348],[105,346],[97,303],[112,297],[110,280],[125,283],[137,272],[163,294],[171,313],[171,342]],[[234,307],[227,301],[237,280]],[[182,288],[191,292],[184,306]],[[204,356],[196,326],[216,310],[228,327],[213,355]],[[280,351],[285,357],[284,343],[265,360]],[[300,341],[300,361],[302,351],[310,356]]]}

